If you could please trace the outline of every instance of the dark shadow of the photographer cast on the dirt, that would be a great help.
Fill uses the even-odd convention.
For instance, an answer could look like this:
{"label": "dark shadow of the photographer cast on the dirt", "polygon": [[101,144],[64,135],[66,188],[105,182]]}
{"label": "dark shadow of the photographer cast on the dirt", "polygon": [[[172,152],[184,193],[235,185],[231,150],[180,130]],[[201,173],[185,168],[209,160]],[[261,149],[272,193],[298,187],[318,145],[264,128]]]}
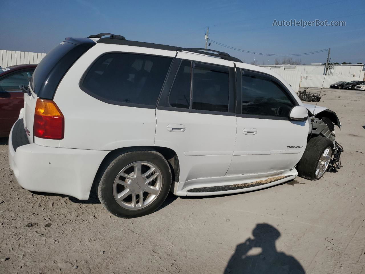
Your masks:
{"label": "dark shadow of the photographer cast on the dirt", "polygon": [[[276,250],[275,241],[280,232],[269,224],[257,224],[252,231],[254,238],[238,244],[224,274],[304,274],[300,263],[290,255]],[[253,248],[261,253],[249,255]],[[253,251],[253,250],[252,250]],[[251,251],[251,253],[253,253]]]}

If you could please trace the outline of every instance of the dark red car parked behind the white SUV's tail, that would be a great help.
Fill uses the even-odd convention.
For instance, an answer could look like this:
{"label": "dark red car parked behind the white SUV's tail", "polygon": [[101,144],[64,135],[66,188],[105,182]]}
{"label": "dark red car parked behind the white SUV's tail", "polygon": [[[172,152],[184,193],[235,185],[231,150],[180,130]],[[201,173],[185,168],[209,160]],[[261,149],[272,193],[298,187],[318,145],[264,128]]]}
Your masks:
{"label": "dark red car parked behind the white SUV's tail", "polygon": [[0,137],[9,136],[11,127],[24,107],[23,91],[37,65],[15,65],[0,69]]}

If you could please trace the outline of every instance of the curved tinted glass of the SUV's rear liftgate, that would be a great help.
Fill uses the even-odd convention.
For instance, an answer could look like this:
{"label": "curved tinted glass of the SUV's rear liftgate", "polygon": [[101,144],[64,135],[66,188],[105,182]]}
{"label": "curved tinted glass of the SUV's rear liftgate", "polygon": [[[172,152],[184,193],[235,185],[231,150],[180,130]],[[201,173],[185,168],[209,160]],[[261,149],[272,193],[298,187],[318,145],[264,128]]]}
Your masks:
{"label": "curved tinted glass of the SUV's rear liftgate", "polygon": [[31,88],[35,94],[38,94],[51,69],[57,64],[57,62],[59,62],[59,60],[61,60],[62,57],[65,56],[66,53],[76,46],[77,45],[71,43],[62,42],[46,54],[35,69],[30,81]]}

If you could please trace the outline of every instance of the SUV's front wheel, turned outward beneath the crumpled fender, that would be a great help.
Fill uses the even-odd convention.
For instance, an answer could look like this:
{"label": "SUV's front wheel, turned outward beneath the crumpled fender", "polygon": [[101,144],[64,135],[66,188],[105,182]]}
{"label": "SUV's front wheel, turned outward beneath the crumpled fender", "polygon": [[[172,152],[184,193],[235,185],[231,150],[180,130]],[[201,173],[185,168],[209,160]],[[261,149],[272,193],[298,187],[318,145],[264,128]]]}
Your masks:
{"label": "SUV's front wheel, turned outward beneath the crumpled fender", "polygon": [[308,180],[320,179],[332,159],[332,145],[322,136],[311,138],[296,167],[299,176]]}

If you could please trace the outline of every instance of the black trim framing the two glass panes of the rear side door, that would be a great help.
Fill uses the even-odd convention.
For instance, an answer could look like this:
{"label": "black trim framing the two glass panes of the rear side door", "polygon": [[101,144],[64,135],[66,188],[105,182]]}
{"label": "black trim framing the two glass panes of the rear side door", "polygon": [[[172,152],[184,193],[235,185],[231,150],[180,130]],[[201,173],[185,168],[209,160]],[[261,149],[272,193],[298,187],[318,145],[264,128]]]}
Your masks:
{"label": "black trim framing the two glass panes of the rear side door", "polygon": [[[216,65],[211,63],[205,63],[205,62],[198,62],[194,60],[189,59],[180,59],[175,58],[176,61],[178,61],[178,66],[175,69],[175,74],[173,75],[173,81],[171,85],[169,85],[168,91],[164,91],[161,95],[161,98],[158,102],[157,109],[159,110],[169,110],[169,111],[180,111],[180,112],[188,112],[188,113],[201,113],[201,114],[212,114],[212,115],[226,115],[226,116],[235,116],[235,75],[234,75],[234,68],[224,65]],[[175,79],[177,77],[177,73],[180,69],[181,64],[183,61],[189,61],[190,62],[190,106],[189,109],[185,109],[182,107],[173,107],[170,105],[170,93],[172,91],[173,84],[175,82]],[[175,64],[176,66],[176,64]],[[214,71],[222,71],[228,73],[228,79],[229,79],[229,87],[228,87],[228,111],[210,111],[210,110],[195,110],[192,109],[192,98],[193,98],[193,68],[199,67],[199,68],[208,68],[212,69]],[[171,71],[172,72],[172,71]],[[173,73],[173,72],[172,72]],[[171,75],[169,77],[172,77]]]}

